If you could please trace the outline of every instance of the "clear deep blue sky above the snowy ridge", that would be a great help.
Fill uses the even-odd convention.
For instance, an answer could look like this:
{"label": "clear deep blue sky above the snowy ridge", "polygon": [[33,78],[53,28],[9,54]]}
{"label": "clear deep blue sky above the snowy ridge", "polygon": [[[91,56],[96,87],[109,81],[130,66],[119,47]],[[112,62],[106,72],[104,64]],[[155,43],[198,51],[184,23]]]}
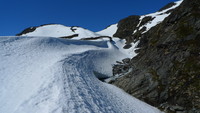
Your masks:
{"label": "clear deep blue sky above the snowy ridge", "polygon": [[156,12],[177,0],[1,0],[0,36],[49,23],[99,31],[130,15]]}

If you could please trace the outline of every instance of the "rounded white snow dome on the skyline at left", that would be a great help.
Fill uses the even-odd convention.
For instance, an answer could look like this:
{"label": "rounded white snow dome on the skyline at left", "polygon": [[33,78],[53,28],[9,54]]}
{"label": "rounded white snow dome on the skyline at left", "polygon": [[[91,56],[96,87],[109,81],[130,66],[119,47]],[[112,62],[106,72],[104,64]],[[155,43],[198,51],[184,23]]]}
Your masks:
{"label": "rounded white snow dome on the skyline at left", "polygon": [[74,34],[78,34],[79,36],[73,39],[99,36],[98,34],[81,27],[67,27],[60,24],[50,24],[50,25],[40,26],[36,28],[35,31],[23,34],[22,36],[65,37]]}

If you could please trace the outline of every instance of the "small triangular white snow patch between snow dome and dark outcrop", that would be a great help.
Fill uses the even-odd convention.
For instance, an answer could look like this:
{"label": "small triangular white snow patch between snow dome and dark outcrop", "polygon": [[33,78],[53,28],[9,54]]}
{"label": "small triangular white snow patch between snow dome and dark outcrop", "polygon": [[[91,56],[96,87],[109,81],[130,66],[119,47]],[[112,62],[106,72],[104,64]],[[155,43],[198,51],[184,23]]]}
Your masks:
{"label": "small triangular white snow patch between snow dome and dark outcrop", "polygon": [[101,31],[96,32],[96,33],[100,34],[100,35],[103,35],[103,36],[110,36],[110,37],[112,37],[117,32],[117,29],[118,29],[117,25],[118,24],[110,25],[106,29],[101,30]]}

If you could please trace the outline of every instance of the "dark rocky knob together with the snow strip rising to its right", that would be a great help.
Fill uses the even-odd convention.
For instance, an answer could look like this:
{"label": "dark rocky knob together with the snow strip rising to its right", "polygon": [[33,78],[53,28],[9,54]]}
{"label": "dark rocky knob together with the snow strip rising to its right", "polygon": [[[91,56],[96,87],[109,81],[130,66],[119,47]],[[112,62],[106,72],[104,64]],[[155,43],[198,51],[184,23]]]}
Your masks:
{"label": "dark rocky knob together with the snow strip rising to its right", "polygon": [[117,30],[113,36],[126,39],[127,43],[135,42],[134,39],[140,39],[141,35],[147,33],[156,25],[161,24],[182,2],[183,0],[179,0],[170,3],[155,13],[142,16],[133,15],[124,18],[117,23]]}

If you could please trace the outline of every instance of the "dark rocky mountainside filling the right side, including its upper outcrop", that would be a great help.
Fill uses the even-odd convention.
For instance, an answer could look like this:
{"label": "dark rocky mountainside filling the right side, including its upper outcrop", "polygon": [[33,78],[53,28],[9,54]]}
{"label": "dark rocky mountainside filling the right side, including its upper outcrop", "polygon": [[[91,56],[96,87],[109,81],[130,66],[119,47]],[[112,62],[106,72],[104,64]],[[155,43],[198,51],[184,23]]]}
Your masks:
{"label": "dark rocky mountainside filling the right side, including its upper outcrop", "polygon": [[[112,84],[167,113],[199,113],[200,1],[184,0],[165,13],[169,16],[148,31],[141,26],[155,17],[130,16],[118,23],[115,37],[125,38],[127,45],[140,43],[136,57],[114,66],[114,74],[124,75]],[[127,72],[120,71],[124,66]]]}

